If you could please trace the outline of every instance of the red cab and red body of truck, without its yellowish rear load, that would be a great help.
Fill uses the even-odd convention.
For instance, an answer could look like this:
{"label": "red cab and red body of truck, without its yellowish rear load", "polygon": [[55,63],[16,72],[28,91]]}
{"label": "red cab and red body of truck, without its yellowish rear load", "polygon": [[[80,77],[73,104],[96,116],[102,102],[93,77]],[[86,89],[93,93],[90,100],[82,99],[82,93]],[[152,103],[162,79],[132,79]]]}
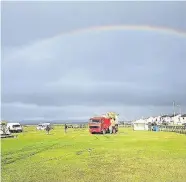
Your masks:
{"label": "red cab and red body of truck, without its yellowish rear load", "polygon": [[[94,133],[110,133],[111,119],[106,117],[93,117],[89,120],[89,132]],[[112,127],[112,133],[118,131],[118,124]]]}

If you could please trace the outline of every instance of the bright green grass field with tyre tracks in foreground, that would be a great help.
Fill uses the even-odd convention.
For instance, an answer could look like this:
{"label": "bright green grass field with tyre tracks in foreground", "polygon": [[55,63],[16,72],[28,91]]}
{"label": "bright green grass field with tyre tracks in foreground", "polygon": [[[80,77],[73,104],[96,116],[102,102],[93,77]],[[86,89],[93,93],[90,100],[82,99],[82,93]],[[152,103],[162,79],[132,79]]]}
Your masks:
{"label": "bright green grass field with tyre tracks in foreground", "polygon": [[27,127],[1,147],[2,182],[186,181],[186,136],[176,133]]}

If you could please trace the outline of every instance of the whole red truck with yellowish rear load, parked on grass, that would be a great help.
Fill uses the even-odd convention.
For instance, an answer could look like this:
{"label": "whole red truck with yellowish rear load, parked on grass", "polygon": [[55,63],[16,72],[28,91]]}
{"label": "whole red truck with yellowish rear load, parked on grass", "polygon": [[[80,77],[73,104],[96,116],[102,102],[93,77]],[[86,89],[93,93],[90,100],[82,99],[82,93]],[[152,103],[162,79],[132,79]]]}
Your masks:
{"label": "whole red truck with yellowish rear load, parked on grass", "polygon": [[101,117],[93,117],[89,120],[89,132],[94,133],[116,133],[118,132],[118,120],[116,114],[107,113]]}

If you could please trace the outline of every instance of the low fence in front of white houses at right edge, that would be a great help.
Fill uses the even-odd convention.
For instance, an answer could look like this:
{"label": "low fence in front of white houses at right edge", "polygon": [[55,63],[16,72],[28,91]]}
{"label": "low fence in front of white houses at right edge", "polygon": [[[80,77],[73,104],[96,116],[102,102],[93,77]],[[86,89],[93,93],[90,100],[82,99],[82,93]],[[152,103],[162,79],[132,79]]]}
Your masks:
{"label": "low fence in front of white houses at right edge", "polygon": [[185,134],[186,135],[186,126],[164,126],[164,125],[159,125],[159,130],[160,131],[166,131],[166,132],[176,132],[180,134]]}

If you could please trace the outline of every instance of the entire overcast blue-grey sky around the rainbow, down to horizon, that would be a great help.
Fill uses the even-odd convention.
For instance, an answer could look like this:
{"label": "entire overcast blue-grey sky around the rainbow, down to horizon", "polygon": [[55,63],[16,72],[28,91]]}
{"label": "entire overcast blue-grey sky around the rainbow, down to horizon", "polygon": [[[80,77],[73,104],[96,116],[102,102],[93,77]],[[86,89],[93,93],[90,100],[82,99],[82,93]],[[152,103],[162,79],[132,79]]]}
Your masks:
{"label": "entire overcast blue-grey sky around the rainbow, down to horizon", "polygon": [[[3,2],[2,119],[186,113],[186,2]],[[180,110],[176,107],[176,111]]]}

